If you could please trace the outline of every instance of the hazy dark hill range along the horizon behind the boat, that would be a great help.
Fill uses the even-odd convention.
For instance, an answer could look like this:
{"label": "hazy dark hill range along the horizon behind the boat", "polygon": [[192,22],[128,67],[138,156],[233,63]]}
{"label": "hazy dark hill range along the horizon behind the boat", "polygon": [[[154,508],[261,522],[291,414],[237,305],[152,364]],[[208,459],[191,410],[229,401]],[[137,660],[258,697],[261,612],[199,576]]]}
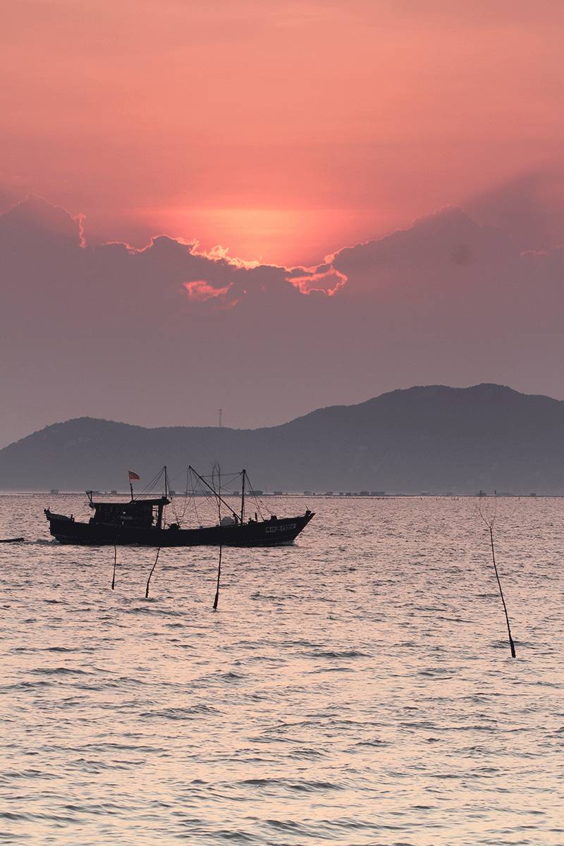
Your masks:
{"label": "hazy dark hill range along the horizon behind the boat", "polygon": [[162,464],[174,477],[216,460],[270,491],[564,493],[564,402],[483,384],[411,387],[254,430],[81,417],[0,450],[0,489],[124,490],[129,469],[143,482]]}

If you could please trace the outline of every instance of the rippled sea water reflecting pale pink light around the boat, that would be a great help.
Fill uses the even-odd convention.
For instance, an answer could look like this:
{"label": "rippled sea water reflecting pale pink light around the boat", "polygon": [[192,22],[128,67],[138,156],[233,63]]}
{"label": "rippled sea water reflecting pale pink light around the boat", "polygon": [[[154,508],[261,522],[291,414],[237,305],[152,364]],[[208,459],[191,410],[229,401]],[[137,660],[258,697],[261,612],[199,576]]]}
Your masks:
{"label": "rippled sea water reflecting pale pink light around the boat", "polygon": [[[0,497],[4,843],[564,843],[564,500],[317,499],[293,547],[62,547]],[[277,503],[278,514],[304,500]]]}

